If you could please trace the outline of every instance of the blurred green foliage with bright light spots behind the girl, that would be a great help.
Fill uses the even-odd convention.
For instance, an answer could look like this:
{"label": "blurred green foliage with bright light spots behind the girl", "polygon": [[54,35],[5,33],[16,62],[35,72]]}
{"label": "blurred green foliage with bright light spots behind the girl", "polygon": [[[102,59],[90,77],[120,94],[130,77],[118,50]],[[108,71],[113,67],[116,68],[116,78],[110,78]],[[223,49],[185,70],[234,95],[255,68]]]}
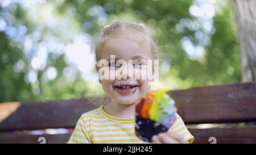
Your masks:
{"label": "blurred green foliage with bright light spots behind the girl", "polygon": [[0,102],[104,95],[94,43],[119,19],[144,23],[157,40],[158,87],[241,81],[228,0],[0,0]]}

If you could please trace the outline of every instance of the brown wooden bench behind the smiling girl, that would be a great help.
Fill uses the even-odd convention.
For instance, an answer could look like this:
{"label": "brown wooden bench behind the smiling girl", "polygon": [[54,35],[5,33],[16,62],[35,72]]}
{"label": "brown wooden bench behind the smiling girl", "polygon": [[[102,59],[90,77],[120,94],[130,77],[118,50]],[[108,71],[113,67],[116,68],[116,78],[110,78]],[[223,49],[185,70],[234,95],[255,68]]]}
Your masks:
{"label": "brown wooden bench behind the smiling girl", "polygon": [[[175,99],[177,113],[186,124],[239,122],[252,124],[242,127],[222,125],[206,129],[189,128],[195,136],[194,143],[209,144],[209,139],[215,138],[217,143],[256,143],[256,125],[253,125],[256,122],[256,82],[173,90],[168,91],[168,94]],[[94,100],[93,103],[91,100]],[[7,131],[74,128],[82,113],[109,102],[109,98],[86,98],[22,103],[13,114],[0,123],[0,143],[39,143],[39,137],[45,137],[46,143],[67,143],[71,133],[20,135]],[[188,126],[197,127],[197,125]]]}

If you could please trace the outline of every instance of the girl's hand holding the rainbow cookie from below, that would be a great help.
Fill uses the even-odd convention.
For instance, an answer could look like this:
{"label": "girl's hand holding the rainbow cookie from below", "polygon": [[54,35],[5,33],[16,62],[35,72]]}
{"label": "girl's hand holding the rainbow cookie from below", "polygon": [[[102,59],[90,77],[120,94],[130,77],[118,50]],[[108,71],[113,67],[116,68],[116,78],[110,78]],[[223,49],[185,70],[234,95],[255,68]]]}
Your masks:
{"label": "girl's hand holding the rainbow cookie from below", "polygon": [[159,133],[152,137],[151,143],[157,144],[186,144],[183,137],[175,133]]}

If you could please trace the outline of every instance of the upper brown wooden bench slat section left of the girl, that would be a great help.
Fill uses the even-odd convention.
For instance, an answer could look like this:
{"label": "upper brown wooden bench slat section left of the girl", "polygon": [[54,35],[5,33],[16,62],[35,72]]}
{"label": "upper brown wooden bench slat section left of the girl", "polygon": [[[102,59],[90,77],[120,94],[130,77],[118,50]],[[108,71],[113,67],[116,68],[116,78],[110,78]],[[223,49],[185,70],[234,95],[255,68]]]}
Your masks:
{"label": "upper brown wooden bench slat section left of the girl", "polygon": [[[92,101],[93,100],[93,101]],[[73,128],[81,114],[100,104],[108,104],[109,98],[58,100],[42,103],[23,103],[0,123],[0,131],[9,129]]]}

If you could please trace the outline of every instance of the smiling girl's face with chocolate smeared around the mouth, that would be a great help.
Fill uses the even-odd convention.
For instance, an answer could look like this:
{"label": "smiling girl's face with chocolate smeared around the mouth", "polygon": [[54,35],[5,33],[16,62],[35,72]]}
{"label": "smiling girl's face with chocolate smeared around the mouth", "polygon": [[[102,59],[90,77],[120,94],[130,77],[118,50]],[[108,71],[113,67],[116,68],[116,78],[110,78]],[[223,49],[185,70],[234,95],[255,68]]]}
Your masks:
{"label": "smiling girl's face with chocolate smeared around the mouth", "polygon": [[[110,55],[115,56],[114,64],[110,64]],[[146,64],[140,60],[152,60],[152,53],[146,45],[140,45],[137,41],[125,39],[123,37],[108,39],[105,41],[101,51],[100,59],[109,62],[109,72],[117,72],[118,60],[125,60],[129,68],[134,68],[135,73],[123,73],[121,77],[115,79],[102,79],[100,82],[106,94],[112,102],[119,104],[138,103],[150,89],[148,79],[138,79],[139,70],[143,70]],[[113,61],[112,61],[113,62]],[[99,68],[96,68],[97,71]],[[137,72],[136,72],[137,70]],[[141,74],[146,74],[143,71]],[[137,77],[137,78],[135,78]],[[132,79],[131,79],[132,78]]]}

